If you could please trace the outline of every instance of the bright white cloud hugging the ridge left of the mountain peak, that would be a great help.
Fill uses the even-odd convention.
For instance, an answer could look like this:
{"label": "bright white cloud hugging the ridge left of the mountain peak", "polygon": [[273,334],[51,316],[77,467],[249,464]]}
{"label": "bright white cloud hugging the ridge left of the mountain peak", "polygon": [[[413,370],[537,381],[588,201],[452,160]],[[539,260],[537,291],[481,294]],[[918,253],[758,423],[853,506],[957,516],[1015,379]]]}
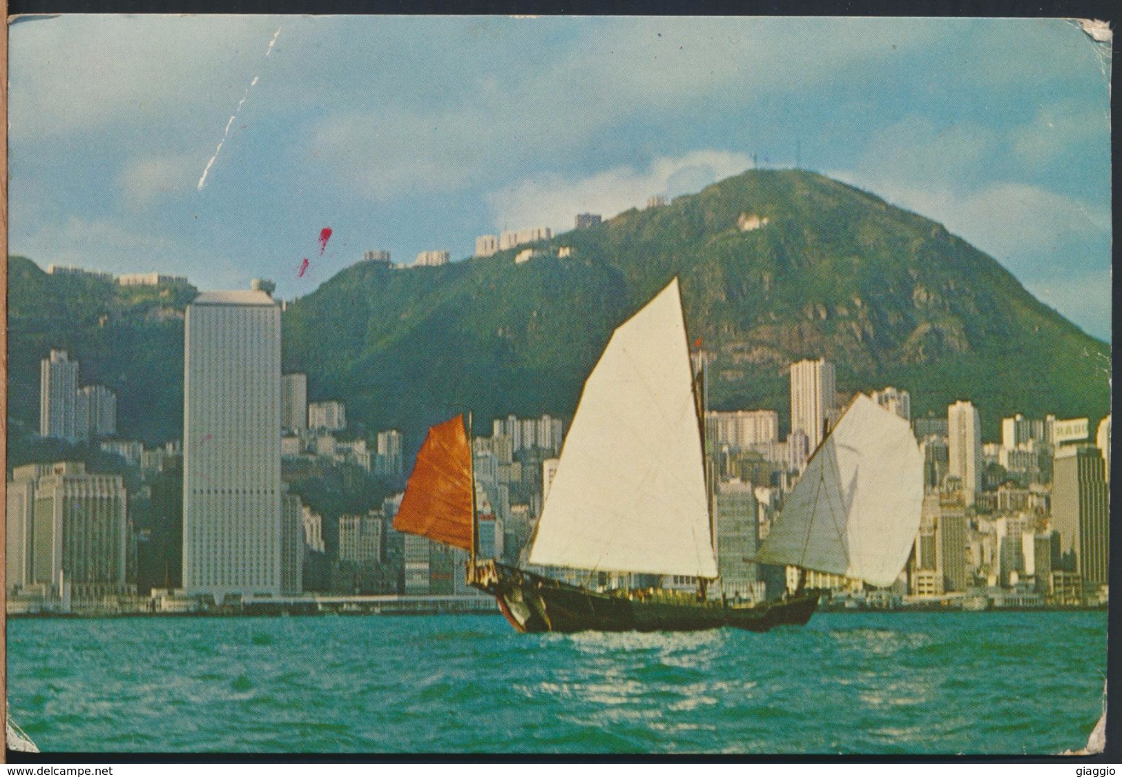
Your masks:
{"label": "bright white cloud hugging the ridge left of the mountain peak", "polygon": [[682,157],[660,157],[646,169],[616,167],[568,181],[548,175],[522,181],[493,192],[487,201],[496,230],[530,225],[572,229],[577,213],[599,213],[609,219],[642,206],[655,194],[677,196],[697,192],[721,178],[743,173],[752,164],[745,154],[720,150],[691,151]]}

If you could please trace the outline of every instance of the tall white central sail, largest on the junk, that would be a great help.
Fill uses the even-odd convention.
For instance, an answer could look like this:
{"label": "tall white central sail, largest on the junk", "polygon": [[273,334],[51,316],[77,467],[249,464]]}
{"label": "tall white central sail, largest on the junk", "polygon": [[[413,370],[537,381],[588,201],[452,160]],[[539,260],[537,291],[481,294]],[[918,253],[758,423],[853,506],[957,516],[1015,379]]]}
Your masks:
{"label": "tall white central sail, largest on the junk", "polygon": [[530,563],[717,576],[677,278],[585,382]]}

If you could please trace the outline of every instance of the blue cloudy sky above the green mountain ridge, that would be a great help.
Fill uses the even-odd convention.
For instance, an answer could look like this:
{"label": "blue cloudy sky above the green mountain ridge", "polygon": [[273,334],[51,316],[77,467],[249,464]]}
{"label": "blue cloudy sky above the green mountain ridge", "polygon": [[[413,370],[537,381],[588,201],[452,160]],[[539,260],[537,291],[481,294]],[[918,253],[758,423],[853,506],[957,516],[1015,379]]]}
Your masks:
{"label": "blue cloudy sky above the green mountain ridge", "polygon": [[10,30],[10,251],[43,267],[201,288],[268,277],[292,298],[368,248],[463,258],[478,234],[564,230],[753,155],[792,166],[798,145],[803,167],[940,221],[1110,339],[1109,44],[1068,21],[67,16]]}

